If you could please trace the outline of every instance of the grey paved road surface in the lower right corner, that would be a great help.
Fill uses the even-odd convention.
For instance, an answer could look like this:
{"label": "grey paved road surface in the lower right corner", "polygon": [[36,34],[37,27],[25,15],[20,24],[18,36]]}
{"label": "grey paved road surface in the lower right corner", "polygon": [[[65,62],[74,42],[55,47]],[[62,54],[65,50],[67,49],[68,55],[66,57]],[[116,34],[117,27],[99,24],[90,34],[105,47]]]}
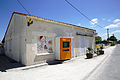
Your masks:
{"label": "grey paved road surface in the lower right corner", "polygon": [[120,45],[86,80],[120,80]]}

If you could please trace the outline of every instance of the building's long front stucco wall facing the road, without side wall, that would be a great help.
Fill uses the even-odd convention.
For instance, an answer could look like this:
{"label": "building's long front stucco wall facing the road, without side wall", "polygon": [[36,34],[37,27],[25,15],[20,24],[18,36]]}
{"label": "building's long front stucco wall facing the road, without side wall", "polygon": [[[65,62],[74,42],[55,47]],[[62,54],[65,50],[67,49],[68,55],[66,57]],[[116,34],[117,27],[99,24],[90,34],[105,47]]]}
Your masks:
{"label": "building's long front stucco wall facing the road, without side wall", "polygon": [[[28,18],[29,19],[29,18]],[[80,29],[80,28],[73,28],[71,26],[65,26],[65,25],[59,25],[51,22],[45,22],[42,20],[37,20],[33,18],[33,24],[31,24],[29,27],[27,27],[27,61],[28,64],[36,64],[40,62],[46,62],[50,60],[55,59],[55,50],[56,47],[56,38],[57,37],[73,37],[73,57],[78,57],[81,55],[80,53],[80,35],[76,35],[76,32],[81,32],[84,34],[93,34],[93,31],[89,31],[86,29]],[[53,43],[53,53],[37,53],[37,41],[40,36],[48,36],[52,37],[52,43]],[[86,46],[86,40],[90,41],[90,47],[92,47],[92,39],[93,37],[85,37],[85,46]],[[85,47],[86,49],[86,47]],[[42,57],[42,58],[41,58]]]}

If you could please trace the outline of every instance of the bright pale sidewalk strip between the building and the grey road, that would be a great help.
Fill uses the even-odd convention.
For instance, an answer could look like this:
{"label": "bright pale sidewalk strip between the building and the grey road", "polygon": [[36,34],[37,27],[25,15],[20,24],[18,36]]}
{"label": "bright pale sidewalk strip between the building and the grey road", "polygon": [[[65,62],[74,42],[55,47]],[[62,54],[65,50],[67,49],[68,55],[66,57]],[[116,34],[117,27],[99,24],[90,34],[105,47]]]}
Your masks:
{"label": "bright pale sidewalk strip between the building and the grey road", "polygon": [[113,49],[107,48],[104,55],[92,59],[81,56],[63,64],[2,72],[0,80],[84,80],[109,58]]}

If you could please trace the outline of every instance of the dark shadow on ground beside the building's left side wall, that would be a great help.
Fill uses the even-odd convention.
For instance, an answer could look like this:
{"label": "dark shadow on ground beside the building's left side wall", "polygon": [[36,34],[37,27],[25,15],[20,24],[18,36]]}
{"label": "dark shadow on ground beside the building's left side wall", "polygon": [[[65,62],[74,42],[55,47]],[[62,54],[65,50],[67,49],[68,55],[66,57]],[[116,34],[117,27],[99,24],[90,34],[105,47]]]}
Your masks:
{"label": "dark shadow on ground beside the building's left side wall", "polygon": [[23,67],[24,65],[16,62],[15,60],[5,56],[0,55],[0,71],[6,72],[8,69],[17,68],[17,67]]}

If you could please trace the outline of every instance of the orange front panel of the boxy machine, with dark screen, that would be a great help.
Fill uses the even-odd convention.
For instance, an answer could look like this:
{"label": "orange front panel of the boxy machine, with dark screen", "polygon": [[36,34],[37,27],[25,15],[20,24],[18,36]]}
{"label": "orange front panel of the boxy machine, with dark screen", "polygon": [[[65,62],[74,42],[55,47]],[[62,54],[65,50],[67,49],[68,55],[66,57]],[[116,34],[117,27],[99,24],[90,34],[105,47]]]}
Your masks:
{"label": "orange front panel of the boxy machine, with dark screen", "polygon": [[71,38],[60,38],[60,60],[71,58]]}

